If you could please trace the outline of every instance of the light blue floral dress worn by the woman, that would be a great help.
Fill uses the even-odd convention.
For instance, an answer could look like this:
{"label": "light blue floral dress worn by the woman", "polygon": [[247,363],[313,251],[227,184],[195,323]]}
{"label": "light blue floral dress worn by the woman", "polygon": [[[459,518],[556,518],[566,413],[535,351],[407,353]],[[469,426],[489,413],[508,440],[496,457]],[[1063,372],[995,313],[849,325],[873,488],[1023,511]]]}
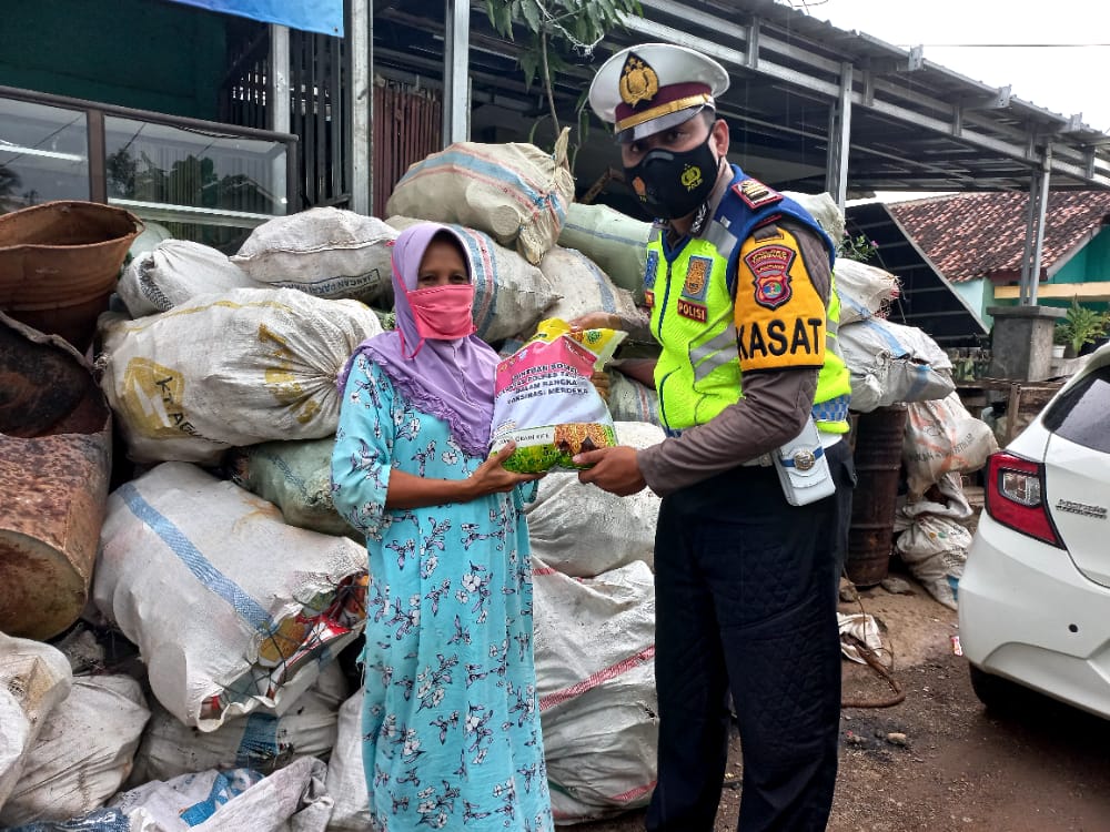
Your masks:
{"label": "light blue floral dress worn by the woman", "polygon": [[549,832],[525,495],[386,509],[393,468],[464,479],[483,459],[467,456],[444,420],[417,410],[365,356],[344,396],[332,490],[370,552],[371,818],[380,832]]}

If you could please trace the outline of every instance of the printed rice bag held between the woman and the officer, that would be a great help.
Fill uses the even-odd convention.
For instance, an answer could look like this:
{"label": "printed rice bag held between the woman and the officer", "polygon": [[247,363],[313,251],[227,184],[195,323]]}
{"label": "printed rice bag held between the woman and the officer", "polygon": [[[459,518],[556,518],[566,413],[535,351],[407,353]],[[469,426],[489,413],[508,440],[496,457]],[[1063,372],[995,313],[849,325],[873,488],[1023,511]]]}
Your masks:
{"label": "printed rice bag held between the woman and the officer", "polygon": [[575,454],[616,445],[613,417],[589,377],[624,338],[618,329],[571,332],[559,318],[541,321],[536,334],[497,365],[491,453],[515,442],[505,467],[539,474],[581,468]]}

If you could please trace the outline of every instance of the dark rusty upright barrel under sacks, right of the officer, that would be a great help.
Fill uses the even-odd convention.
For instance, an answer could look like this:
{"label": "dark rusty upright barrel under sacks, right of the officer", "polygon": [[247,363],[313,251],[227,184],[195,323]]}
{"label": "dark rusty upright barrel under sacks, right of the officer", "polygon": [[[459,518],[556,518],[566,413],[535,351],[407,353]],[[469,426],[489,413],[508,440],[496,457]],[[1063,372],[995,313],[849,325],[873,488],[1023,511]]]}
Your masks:
{"label": "dark rusty upright barrel under sacks, right of the officer", "polygon": [[852,460],[858,483],[851,498],[845,571],[857,587],[874,587],[887,577],[905,430],[905,405],[879,407],[856,418]]}

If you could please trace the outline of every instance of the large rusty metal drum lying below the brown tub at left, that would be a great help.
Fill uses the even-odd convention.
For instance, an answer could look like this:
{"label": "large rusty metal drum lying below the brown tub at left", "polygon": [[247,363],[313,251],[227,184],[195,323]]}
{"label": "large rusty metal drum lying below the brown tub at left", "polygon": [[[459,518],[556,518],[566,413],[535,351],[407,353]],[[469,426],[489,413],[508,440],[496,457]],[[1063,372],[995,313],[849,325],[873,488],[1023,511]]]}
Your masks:
{"label": "large rusty metal drum lying below the brown tub at left", "polygon": [[77,621],[111,474],[111,410],[84,358],[0,314],[0,631]]}

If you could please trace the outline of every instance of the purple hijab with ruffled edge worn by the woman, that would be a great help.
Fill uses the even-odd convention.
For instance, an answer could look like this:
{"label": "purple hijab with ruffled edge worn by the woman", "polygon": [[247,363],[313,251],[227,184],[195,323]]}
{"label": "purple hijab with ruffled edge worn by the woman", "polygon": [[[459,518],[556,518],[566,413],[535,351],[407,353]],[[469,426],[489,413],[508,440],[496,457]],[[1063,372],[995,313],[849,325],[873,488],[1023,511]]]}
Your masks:
{"label": "purple hijab with ruffled edge worn by the woman", "polygon": [[342,392],[355,358],[377,364],[420,410],[451,427],[458,446],[471,456],[490,451],[494,373],[500,357],[477,335],[455,341],[424,339],[416,332],[407,293],[416,290],[420,264],[432,237],[450,234],[463,252],[474,282],[474,262],[465,241],[451,226],[420,223],[401,232],[393,244],[393,296],[397,327],[367,338],[354,351],[339,377]]}

